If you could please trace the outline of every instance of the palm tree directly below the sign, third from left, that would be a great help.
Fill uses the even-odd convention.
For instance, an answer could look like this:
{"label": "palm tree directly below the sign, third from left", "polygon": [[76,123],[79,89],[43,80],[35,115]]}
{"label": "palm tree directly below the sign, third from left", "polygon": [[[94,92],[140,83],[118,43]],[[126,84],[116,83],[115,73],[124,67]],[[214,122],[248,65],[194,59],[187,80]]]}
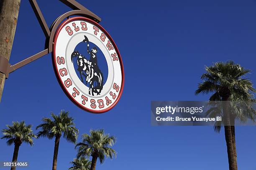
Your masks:
{"label": "palm tree directly below the sign, third from left", "polygon": [[78,148],[77,158],[92,156],[92,164],[90,170],[95,170],[97,158],[100,159],[100,164],[105,160],[105,157],[110,159],[116,157],[116,152],[111,146],[115,144],[116,138],[109,134],[104,134],[104,130],[90,130],[90,135],[82,135],[82,143],[78,143],[75,148]]}

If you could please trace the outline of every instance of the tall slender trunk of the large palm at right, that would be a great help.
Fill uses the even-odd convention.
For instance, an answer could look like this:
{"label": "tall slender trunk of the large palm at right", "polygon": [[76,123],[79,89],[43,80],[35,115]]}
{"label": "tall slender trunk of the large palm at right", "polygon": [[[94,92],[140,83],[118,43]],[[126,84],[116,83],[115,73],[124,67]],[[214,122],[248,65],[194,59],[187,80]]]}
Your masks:
{"label": "tall slender trunk of the large palm at right", "polygon": [[227,144],[227,152],[228,152],[228,164],[229,170],[237,170],[236,166],[236,158],[234,155],[234,148],[233,148],[233,136],[232,130],[230,126],[230,114],[228,110],[228,101],[223,102],[223,113],[224,113],[224,129],[225,129],[225,140]]}

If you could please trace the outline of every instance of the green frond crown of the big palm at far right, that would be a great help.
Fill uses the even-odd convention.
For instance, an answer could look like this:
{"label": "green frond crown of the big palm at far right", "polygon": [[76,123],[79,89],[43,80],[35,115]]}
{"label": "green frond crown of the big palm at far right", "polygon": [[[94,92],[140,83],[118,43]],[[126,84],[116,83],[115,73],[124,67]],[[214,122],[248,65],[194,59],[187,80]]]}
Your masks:
{"label": "green frond crown of the big palm at far right", "polygon": [[[202,82],[198,85],[195,94],[213,93],[210,101],[224,100],[228,95],[228,100],[242,101],[250,103],[254,99],[256,90],[251,80],[246,78],[250,70],[241,67],[233,61],[216,62],[210,67],[205,67],[205,73],[202,74]],[[252,105],[241,105],[231,103],[230,113],[240,122],[246,122],[249,119],[255,121],[255,109]],[[214,117],[223,115],[222,111],[216,106],[212,106],[206,116]],[[215,131],[219,132],[222,124],[216,122]]]}

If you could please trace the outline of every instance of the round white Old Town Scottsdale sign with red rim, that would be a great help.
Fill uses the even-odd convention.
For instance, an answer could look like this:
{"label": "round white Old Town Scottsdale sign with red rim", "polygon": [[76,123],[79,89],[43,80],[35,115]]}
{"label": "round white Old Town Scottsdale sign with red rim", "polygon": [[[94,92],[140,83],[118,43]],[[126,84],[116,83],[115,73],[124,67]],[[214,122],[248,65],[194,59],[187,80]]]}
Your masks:
{"label": "round white Old Town Scottsdale sign with red rim", "polygon": [[62,89],[92,113],[112,109],[123,91],[123,63],[108,32],[84,17],[69,18],[54,36],[52,60]]}

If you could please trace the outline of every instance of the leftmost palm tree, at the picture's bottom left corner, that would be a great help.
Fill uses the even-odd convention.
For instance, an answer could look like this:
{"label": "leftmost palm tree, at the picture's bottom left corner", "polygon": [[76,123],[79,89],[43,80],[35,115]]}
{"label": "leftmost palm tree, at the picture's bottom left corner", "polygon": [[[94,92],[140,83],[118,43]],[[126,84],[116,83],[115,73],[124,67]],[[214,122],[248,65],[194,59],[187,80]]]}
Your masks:
{"label": "leftmost palm tree, at the picture's bottom left corner", "polygon": [[[25,142],[33,145],[33,138],[36,138],[36,135],[33,134],[31,129],[32,125],[26,125],[24,121],[13,122],[13,125],[6,125],[7,129],[3,129],[3,137],[1,139],[7,139],[7,145],[14,144],[13,152],[13,163],[17,162],[18,152],[20,145]],[[14,164],[15,165],[15,164]],[[11,170],[15,170],[16,166],[12,166]]]}

